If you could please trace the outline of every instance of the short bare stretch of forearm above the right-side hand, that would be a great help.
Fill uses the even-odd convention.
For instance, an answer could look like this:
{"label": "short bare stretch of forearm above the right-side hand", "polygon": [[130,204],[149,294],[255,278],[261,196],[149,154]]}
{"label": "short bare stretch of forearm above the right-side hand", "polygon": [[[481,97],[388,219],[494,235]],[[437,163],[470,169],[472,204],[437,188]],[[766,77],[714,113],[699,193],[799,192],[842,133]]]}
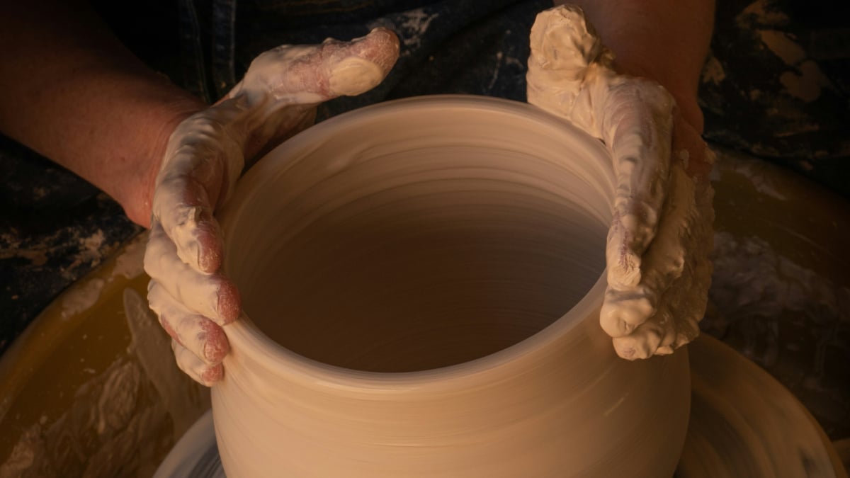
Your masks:
{"label": "short bare stretch of forearm above the right-side hand", "polygon": [[[564,2],[556,2],[564,3]],[[571,0],[585,10],[619,71],[667,88],[683,117],[702,131],[700,71],[714,26],[714,0]]]}

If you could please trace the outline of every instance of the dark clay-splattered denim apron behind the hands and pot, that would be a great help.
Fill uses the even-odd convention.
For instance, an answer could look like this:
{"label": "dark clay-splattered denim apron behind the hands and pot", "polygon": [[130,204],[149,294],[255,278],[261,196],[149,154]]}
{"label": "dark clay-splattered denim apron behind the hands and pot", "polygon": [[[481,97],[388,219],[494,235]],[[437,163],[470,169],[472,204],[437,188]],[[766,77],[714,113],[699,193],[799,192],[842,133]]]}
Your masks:
{"label": "dark clay-splattered denim apron behind the hands and pot", "polygon": [[[347,40],[375,26],[395,31],[401,51],[387,79],[366,94],[321,105],[319,120],[361,105],[420,94],[524,100],[530,27],[539,11],[552,6],[550,0],[92,2],[134,54],[208,102],[227,93],[251,60],[269,48],[320,43],[326,37]],[[834,74],[847,71],[850,62],[847,48],[842,48],[846,44],[841,41],[842,30],[836,30],[828,14],[822,15],[826,20],[808,19],[802,26],[794,22],[752,26],[745,14],[750,3],[729,0],[717,5],[711,61],[722,65],[724,74],[704,75],[700,84],[706,138],[783,162],[850,197],[847,134],[842,133],[850,125],[850,82]],[[788,10],[786,17],[800,16],[788,9],[788,3],[793,2],[777,0],[771,8]],[[783,96],[779,80],[789,67],[777,67],[778,60],[755,34],[768,27],[811,37],[811,42],[832,38],[835,45],[811,43],[820,45],[814,48],[819,52],[815,56],[823,59],[822,68],[833,78],[818,100],[799,104]],[[757,98],[753,91],[759,93]],[[777,115],[777,104],[800,112]],[[793,124],[780,121],[783,117]],[[789,157],[762,155],[765,151],[789,151]],[[817,151],[819,156],[797,151]],[[0,181],[3,353],[56,294],[108,257],[111,245],[140,228],[94,186],[2,135]],[[93,237],[103,245],[96,251],[83,250],[82,244],[88,243],[84,240]],[[83,252],[90,260],[78,264],[73,258]],[[27,259],[33,254],[43,258]]]}

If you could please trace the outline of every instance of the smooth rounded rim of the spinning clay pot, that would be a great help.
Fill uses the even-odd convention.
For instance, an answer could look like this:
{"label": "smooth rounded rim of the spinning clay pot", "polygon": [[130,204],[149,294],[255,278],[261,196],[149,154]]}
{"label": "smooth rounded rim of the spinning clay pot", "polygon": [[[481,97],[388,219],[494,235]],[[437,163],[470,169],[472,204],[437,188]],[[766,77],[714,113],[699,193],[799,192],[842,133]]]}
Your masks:
{"label": "smooth rounded rim of the spinning clay pot", "polygon": [[[369,117],[380,117],[399,111],[406,111],[411,107],[428,107],[434,109],[471,108],[481,113],[497,112],[512,114],[526,121],[538,122],[541,127],[553,130],[554,134],[561,134],[566,139],[575,141],[576,149],[580,147],[584,148],[590,151],[590,154],[600,157],[600,159],[603,156],[609,157],[609,152],[604,148],[600,140],[593,138],[570,122],[555,117],[534,105],[515,100],[471,94],[437,94],[400,100],[388,100],[348,111],[336,117],[331,117],[324,122],[317,123],[313,127],[307,128],[292,138],[287,139],[284,144],[277,146],[274,150],[269,151],[266,156],[263,156],[263,159],[275,155],[275,151],[277,151],[277,156],[280,156],[280,159],[277,161],[258,161],[244,174],[240,182],[245,179],[250,180],[268,176],[273,172],[279,173],[280,162],[285,162],[287,156],[291,157],[292,151],[311,149],[310,145],[315,144],[316,141],[321,142],[325,140],[326,131],[331,128],[339,128],[348,122],[365,121]],[[285,156],[280,155],[281,149],[286,149]],[[606,171],[612,171],[610,162],[604,163],[602,167]],[[613,172],[610,174],[613,181]],[[611,187],[613,188],[613,185]],[[238,185],[236,190],[238,190]],[[255,191],[243,193],[244,201],[241,202],[240,206],[234,205],[232,197],[231,201],[224,205],[224,208],[217,214],[223,230],[227,230],[227,225],[233,222],[243,212],[243,209],[246,208],[245,205],[251,202],[254,194]],[[236,192],[234,192],[234,195],[236,195]],[[613,189],[609,191],[609,196],[613,197]],[[516,344],[471,361],[413,372],[385,373],[361,371],[329,365],[307,356],[302,356],[269,339],[243,310],[237,321],[224,327],[224,332],[231,344],[230,353],[224,360],[224,381],[227,378],[226,371],[229,367],[235,367],[235,361],[237,360],[235,357],[238,356],[238,360],[243,363],[256,364],[275,361],[278,364],[285,364],[285,367],[275,367],[274,369],[274,373],[281,379],[297,380],[299,383],[314,384],[321,388],[358,390],[360,392],[365,390],[381,390],[382,392],[397,390],[401,392],[411,390],[411,388],[421,390],[422,387],[450,387],[451,384],[456,384],[458,380],[462,380],[464,384],[473,386],[473,378],[485,379],[484,376],[490,375],[490,373],[498,373],[502,367],[506,367],[509,364],[515,366],[516,361],[519,360],[535,361],[536,356],[545,353],[548,344],[557,341],[564,334],[570,333],[570,330],[586,319],[587,316],[592,314],[598,316],[601,304],[597,298],[604,295],[605,287],[607,287],[606,276],[607,268],[604,268],[593,286],[587,290],[587,293],[570,310],[567,310],[563,316],[558,317],[558,319],[547,327],[544,327],[541,331],[534,333]],[[233,344],[236,346],[233,347]],[[613,347],[611,349],[611,355],[615,356]]]}

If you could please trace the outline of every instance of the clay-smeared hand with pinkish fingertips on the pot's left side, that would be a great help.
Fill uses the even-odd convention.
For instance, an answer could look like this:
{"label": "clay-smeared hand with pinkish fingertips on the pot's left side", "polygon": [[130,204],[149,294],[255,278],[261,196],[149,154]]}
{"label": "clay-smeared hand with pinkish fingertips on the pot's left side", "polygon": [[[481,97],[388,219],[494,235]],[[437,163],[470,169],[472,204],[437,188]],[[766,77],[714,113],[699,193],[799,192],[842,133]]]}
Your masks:
{"label": "clay-smeared hand with pinkish fingertips on the pot's left side", "polygon": [[144,270],[152,278],[150,308],[173,339],[179,367],[195,380],[222,377],[229,344],[221,326],[241,313],[236,287],[219,270],[223,242],[213,212],[246,159],[309,126],[321,101],[375,87],[398,53],[397,38],[384,29],[350,43],[269,50],[223,100],[174,130],[156,177]]}

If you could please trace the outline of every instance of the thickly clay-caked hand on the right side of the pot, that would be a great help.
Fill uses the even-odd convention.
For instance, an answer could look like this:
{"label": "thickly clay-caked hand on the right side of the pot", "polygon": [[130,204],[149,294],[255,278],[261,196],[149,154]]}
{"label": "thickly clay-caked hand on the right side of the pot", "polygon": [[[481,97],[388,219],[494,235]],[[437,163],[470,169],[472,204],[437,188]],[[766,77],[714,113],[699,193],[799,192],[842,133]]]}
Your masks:
{"label": "thickly clay-caked hand on the right side of the pot", "polygon": [[613,60],[577,7],[542,12],[531,28],[529,102],[602,139],[614,162],[600,319],[617,354],[635,359],[699,334],[711,282],[711,151],[666,89],[617,75]]}

